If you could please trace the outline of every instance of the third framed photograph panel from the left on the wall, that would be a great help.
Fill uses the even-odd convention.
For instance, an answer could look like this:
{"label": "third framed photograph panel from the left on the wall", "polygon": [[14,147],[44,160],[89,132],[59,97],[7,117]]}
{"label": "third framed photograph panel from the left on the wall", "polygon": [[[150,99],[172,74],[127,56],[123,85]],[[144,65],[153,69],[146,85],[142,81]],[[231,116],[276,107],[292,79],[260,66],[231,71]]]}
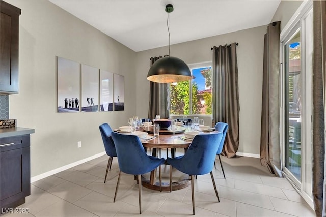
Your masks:
{"label": "third framed photograph panel from the left on the wall", "polygon": [[100,70],[100,111],[113,111],[113,73]]}

